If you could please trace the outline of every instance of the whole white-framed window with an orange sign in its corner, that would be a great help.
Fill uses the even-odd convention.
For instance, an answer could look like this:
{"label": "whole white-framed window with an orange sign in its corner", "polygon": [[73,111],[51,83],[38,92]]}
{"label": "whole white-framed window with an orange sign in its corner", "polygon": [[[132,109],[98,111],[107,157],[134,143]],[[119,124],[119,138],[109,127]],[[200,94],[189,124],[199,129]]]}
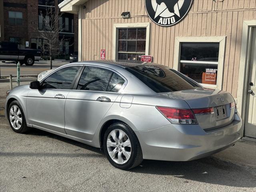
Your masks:
{"label": "whole white-framed window with an orange sign in its corner", "polygon": [[208,88],[222,89],[225,37],[176,37],[173,68]]}

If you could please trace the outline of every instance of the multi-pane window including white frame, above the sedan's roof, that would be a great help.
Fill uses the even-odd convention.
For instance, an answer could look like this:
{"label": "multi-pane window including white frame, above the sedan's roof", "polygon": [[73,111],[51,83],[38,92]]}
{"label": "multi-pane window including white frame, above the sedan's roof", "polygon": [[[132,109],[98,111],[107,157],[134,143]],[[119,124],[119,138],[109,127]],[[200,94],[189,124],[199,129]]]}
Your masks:
{"label": "multi-pane window including white frame, above the sedan's roof", "polygon": [[149,54],[150,23],[114,24],[113,59],[137,60]]}

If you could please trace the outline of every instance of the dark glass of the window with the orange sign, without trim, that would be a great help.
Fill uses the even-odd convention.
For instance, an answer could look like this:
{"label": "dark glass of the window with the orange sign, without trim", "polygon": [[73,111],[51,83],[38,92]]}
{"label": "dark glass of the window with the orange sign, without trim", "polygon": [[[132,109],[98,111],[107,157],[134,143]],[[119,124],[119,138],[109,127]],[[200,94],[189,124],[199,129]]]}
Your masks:
{"label": "dark glass of the window with the orange sign, without trim", "polygon": [[220,44],[216,42],[182,42],[180,72],[202,84],[217,84]]}

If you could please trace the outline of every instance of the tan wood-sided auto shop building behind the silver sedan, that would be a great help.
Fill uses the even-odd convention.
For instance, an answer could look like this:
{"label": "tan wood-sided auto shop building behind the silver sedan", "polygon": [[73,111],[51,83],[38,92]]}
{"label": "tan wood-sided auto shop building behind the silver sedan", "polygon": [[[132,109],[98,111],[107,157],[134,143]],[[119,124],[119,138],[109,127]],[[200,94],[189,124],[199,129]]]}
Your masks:
{"label": "tan wood-sided auto shop building behind the silver sedan", "polygon": [[256,138],[255,0],[65,0],[59,7],[78,14],[79,60],[99,60],[101,50],[106,59],[150,55],[230,92],[245,136]]}

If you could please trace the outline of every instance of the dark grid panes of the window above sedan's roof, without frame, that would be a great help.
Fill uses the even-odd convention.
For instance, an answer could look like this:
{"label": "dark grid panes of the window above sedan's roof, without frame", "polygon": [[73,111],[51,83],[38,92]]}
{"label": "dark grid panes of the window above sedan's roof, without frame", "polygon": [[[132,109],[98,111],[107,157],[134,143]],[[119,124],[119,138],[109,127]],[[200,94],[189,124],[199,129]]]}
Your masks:
{"label": "dark grid panes of the window above sedan's roof, without frame", "polygon": [[146,28],[118,29],[118,60],[138,60],[146,52]]}

